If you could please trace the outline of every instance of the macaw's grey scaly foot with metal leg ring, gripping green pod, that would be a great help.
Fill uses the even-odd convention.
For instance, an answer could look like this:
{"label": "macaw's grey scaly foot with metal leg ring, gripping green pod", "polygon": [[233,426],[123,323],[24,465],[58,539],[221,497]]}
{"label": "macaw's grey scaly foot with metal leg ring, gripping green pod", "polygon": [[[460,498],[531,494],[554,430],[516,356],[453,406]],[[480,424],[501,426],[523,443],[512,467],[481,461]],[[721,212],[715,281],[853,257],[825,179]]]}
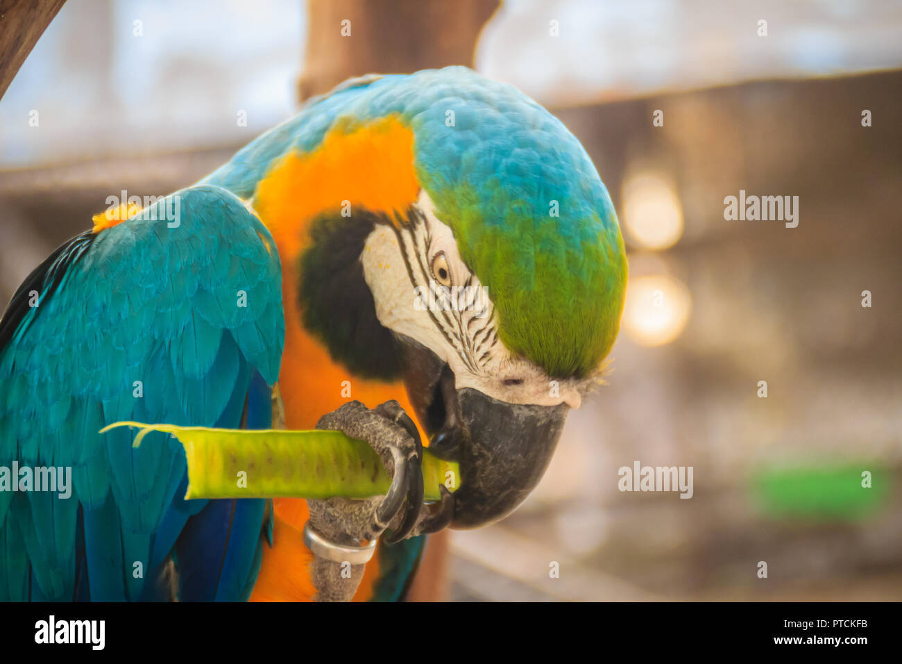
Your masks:
{"label": "macaw's grey scaly foot with metal leg ring, gripping green pod", "polygon": [[386,542],[444,528],[454,516],[454,500],[442,488],[435,506],[423,504],[417,426],[397,401],[365,407],[359,401],[322,416],[318,429],[341,431],[365,441],[379,454],[391,476],[384,496],[366,500],[308,500],[310,520],[304,542],[314,554],[312,578],[320,602],[349,601],[360,585],[375,542],[386,529]]}

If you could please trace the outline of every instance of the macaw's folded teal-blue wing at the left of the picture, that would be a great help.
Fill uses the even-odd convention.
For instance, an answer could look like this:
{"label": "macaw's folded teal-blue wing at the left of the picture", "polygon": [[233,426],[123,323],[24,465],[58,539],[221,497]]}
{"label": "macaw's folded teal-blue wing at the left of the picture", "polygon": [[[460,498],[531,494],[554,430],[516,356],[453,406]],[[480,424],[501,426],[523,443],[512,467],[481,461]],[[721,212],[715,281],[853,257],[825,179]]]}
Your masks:
{"label": "macaw's folded teal-blue wing at the left of the picture", "polygon": [[[23,304],[28,289],[38,306]],[[0,491],[0,598],[72,598],[79,569],[80,596],[146,596],[209,506],[182,500],[184,453],[168,436],[133,449],[133,432],[97,432],[121,420],[237,422],[252,373],[275,382],[284,322],[272,238],[234,194],[193,187],[73,239],[20,291],[0,322],[0,466],[70,466],[73,490]],[[224,568],[243,575],[227,579],[239,588],[262,527],[263,501],[247,502],[226,551],[240,564]]]}

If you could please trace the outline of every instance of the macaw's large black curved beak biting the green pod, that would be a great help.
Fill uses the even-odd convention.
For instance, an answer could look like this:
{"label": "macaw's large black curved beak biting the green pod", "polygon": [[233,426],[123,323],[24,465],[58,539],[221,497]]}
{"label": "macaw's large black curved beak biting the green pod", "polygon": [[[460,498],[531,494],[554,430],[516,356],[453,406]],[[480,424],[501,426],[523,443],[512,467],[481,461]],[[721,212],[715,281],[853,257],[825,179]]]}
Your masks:
{"label": "macaw's large black curved beak biting the green pod", "polygon": [[510,514],[542,479],[568,407],[523,406],[473,388],[416,341],[402,340],[404,382],[429,450],[460,463],[452,528],[476,528]]}

